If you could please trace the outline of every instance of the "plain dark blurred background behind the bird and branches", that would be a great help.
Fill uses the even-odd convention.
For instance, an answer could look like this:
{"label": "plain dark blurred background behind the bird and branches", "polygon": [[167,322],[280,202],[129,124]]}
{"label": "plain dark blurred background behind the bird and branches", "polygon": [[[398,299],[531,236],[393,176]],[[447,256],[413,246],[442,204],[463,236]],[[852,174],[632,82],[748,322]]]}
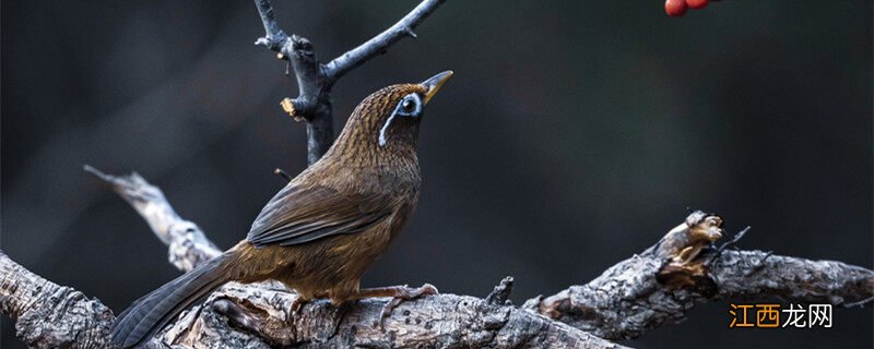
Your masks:
{"label": "plain dark blurred background behind the bird and branches", "polygon": [[[416,3],[275,2],[326,61]],[[451,0],[416,32],[334,89],[342,125],[379,87],[456,71],[422,130],[418,209],[365,286],[482,297],[513,275],[521,302],[642,251],[686,207],[752,226],[741,248],[872,267],[870,1],[671,19],[661,0]],[[245,237],[273,168],[306,163],[279,107],[296,86],[261,35],[251,1],[3,1],[3,251],[116,311],[178,275],[83,164],[139,171],[222,248]],[[872,347],[870,308],[828,330],[730,330],[728,309],[627,344]]]}

